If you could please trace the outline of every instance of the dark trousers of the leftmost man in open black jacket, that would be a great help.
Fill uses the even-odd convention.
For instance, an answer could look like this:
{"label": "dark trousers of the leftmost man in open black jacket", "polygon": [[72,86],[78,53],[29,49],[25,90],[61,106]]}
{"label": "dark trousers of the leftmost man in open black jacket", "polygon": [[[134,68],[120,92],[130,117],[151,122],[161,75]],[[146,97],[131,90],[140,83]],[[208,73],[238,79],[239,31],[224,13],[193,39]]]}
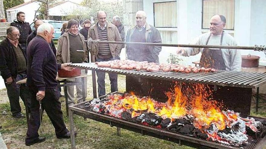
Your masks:
{"label": "dark trousers of the leftmost man in open black jacket", "polygon": [[[13,116],[21,113],[21,107],[19,104],[19,96],[24,102],[25,99],[29,98],[28,87],[25,84],[16,84],[17,81],[22,80],[27,77],[26,73],[17,74],[16,78],[12,78],[13,82],[11,84],[6,84],[7,95],[10,103],[11,113]],[[6,81],[6,80],[5,80]],[[24,102],[25,105],[25,102]],[[26,105],[25,105],[26,106]]]}

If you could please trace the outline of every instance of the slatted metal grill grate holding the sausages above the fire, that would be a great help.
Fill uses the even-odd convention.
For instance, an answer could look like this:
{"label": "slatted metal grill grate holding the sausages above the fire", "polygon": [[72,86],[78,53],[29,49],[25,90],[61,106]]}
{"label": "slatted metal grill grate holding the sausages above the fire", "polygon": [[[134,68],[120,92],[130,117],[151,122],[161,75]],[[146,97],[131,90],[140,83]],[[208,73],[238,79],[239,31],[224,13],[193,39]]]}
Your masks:
{"label": "slatted metal grill grate holding the sausages above the fire", "polygon": [[197,82],[211,85],[233,86],[242,88],[256,88],[266,82],[266,73],[254,73],[243,71],[218,70],[214,73],[180,73],[163,72],[161,70],[148,72],[147,70],[120,70],[112,68],[97,67],[95,63],[70,64],[88,70],[102,70],[124,75],[141,76],[146,78],[159,78],[181,82]]}

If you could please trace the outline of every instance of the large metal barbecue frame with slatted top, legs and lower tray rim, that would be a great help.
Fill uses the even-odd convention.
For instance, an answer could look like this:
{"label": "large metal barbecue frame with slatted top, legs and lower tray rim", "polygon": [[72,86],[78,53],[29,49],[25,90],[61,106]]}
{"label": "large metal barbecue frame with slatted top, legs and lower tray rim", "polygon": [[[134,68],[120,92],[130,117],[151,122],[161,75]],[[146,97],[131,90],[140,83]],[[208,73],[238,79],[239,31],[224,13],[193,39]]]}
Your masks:
{"label": "large metal barbecue frame with slatted top, legs and lower tray rim", "polygon": [[[243,71],[225,71],[225,70],[218,70],[214,73],[177,73],[177,72],[163,72],[161,70],[155,72],[148,72],[147,70],[121,70],[121,69],[112,69],[112,68],[105,68],[105,67],[97,67],[95,63],[82,63],[82,64],[70,64],[71,67],[77,67],[86,70],[92,70],[92,83],[93,83],[93,97],[96,98],[96,80],[95,80],[95,71],[105,71],[105,72],[112,72],[118,73],[126,76],[135,76],[141,78],[149,78],[152,80],[163,80],[166,81],[179,81],[179,82],[190,82],[190,83],[203,83],[208,85],[213,85],[214,89],[218,88],[217,86],[225,87],[224,94],[227,94],[227,88],[237,88],[238,94],[239,92],[244,93],[242,96],[247,96],[245,99],[249,99],[251,101],[251,91],[252,88],[258,88],[260,85],[266,82],[266,73],[254,73],[254,72],[243,72]],[[163,83],[161,82],[161,83]],[[126,82],[128,85],[130,82]],[[161,84],[160,87],[164,86]],[[127,88],[128,89],[128,88]],[[246,93],[245,93],[246,92]],[[232,98],[232,97],[229,97]],[[240,101],[237,101],[240,102]],[[86,102],[83,102],[86,103]],[[83,104],[80,103],[80,104]],[[243,103],[237,103],[241,107]],[[115,119],[110,116],[102,115],[100,113],[86,111],[84,109],[78,108],[79,104],[70,106],[69,108],[69,120],[70,120],[70,133],[71,133],[71,147],[75,149],[75,137],[74,137],[74,122],[73,122],[73,114],[83,116],[84,118],[90,118],[92,120],[97,120],[102,123],[110,124],[110,126],[117,126],[119,128],[125,128],[131,131],[139,132],[141,134],[151,135],[157,138],[167,139],[169,141],[174,141],[180,144],[185,144],[188,146],[193,146],[200,148],[201,146],[207,146],[209,148],[219,148],[219,149],[237,149],[238,147],[231,147],[231,146],[220,146],[215,142],[211,141],[204,141],[197,138],[191,138],[184,135],[173,134],[170,132],[165,132],[162,130],[156,129],[148,129],[148,126],[142,126],[138,124],[134,124],[131,122],[127,122],[125,120]],[[248,108],[246,108],[248,107]],[[246,109],[245,109],[246,108]],[[250,104],[245,105],[246,113],[245,115],[248,116],[250,110]],[[248,112],[247,112],[248,111]],[[253,116],[254,117],[254,116]],[[264,120],[264,119],[261,119]],[[160,136],[164,135],[164,136]],[[167,136],[167,137],[165,137]],[[262,148],[266,143],[266,136],[260,140],[260,142],[256,145],[256,148]]]}

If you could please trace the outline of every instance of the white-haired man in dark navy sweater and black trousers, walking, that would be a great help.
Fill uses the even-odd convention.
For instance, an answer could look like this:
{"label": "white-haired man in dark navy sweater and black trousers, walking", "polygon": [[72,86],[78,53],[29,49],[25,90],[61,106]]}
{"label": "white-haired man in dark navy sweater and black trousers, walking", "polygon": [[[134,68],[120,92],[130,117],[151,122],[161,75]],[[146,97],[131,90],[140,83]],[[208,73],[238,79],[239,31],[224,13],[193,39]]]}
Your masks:
{"label": "white-haired man in dark navy sweater and black trousers, walking", "polygon": [[37,36],[28,45],[27,85],[30,90],[31,117],[25,139],[27,146],[45,140],[45,137],[39,137],[38,134],[41,125],[39,101],[53,123],[57,138],[70,138],[70,132],[63,121],[56,76],[58,69],[71,71],[73,68],[67,67],[67,63],[57,64],[56,51],[49,46],[53,37],[53,26],[43,23],[38,27]]}

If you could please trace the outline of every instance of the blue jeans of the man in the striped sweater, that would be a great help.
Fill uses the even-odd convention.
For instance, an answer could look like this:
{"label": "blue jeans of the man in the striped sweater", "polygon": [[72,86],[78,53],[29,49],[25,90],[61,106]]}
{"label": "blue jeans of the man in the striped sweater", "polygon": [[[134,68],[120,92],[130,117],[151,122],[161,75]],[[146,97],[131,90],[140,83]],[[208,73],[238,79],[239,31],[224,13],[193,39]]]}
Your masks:
{"label": "blue jeans of the man in the striped sweater", "polygon": [[[102,58],[97,58],[97,62],[100,62],[100,61],[112,61],[112,60],[115,60],[113,57],[111,58],[107,58],[107,59],[102,59]],[[97,74],[97,83],[98,83],[98,95],[99,96],[103,96],[105,95],[105,72],[104,71],[100,71],[100,70],[97,70],[96,71],[96,74]],[[118,91],[118,88],[117,88],[117,73],[108,73],[109,75],[109,79],[111,81],[111,92],[116,92]]]}

